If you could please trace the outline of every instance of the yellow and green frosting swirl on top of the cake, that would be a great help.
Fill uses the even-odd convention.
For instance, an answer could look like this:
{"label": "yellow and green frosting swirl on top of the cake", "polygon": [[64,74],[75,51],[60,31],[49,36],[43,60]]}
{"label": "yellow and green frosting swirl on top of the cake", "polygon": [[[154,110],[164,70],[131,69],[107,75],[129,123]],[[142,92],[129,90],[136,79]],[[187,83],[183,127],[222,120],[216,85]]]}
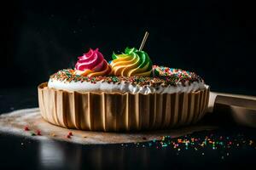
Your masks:
{"label": "yellow and green frosting swirl on top of the cake", "polygon": [[112,59],[110,66],[112,68],[111,74],[114,76],[149,77],[152,72],[152,61],[148,54],[137,50],[137,48],[125,48],[124,54],[113,53]]}

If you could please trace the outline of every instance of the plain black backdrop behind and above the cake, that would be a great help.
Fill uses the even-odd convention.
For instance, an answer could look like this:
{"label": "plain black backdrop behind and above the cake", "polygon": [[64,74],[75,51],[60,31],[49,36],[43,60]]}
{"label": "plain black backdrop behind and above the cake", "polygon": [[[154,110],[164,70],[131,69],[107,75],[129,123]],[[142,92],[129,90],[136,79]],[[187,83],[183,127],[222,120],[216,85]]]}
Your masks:
{"label": "plain black backdrop behind and above the cake", "polygon": [[36,87],[89,48],[109,60],[149,31],[154,64],[195,71],[212,90],[256,95],[253,4],[167,2],[1,3],[1,88]]}

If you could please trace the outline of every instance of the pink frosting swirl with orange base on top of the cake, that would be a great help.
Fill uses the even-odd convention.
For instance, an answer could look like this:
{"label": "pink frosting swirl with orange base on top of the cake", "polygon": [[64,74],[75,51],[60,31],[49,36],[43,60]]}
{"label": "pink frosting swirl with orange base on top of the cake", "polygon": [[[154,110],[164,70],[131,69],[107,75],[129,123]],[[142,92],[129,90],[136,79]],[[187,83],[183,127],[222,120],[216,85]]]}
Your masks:
{"label": "pink frosting swirl with orange base on top of the cake", "polygon": [[104,76],[110,71],[108,62],[98,48],[96,50],[90,48],[87,54],[79,57],[75,65],[75,74],[87,77]]}

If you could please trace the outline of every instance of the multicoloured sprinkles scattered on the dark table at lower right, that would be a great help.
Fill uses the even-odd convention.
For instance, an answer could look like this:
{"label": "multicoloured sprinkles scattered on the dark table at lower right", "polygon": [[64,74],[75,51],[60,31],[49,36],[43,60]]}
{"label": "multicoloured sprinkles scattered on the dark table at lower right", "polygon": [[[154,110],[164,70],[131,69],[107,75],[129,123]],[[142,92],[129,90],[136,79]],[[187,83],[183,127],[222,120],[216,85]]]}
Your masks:
{"label": "multicoloured sprinkles scattered on the dark table at lower right", "polygon": [[256,149],[255,140],[247,139],[242,133],[219,134],[214,131],[206,131],[206,135],[192,133],[179,138],[171,136],[160,136],[149,142],[136,142],[131,144],[121,144],[122,147],[151,148],[157,150],[173,150],[181,156],[187,151],[195,151],[201,156],[209,156],[210,150],[217,153],[220,159],[230,156],[233,151],[248,148]]}

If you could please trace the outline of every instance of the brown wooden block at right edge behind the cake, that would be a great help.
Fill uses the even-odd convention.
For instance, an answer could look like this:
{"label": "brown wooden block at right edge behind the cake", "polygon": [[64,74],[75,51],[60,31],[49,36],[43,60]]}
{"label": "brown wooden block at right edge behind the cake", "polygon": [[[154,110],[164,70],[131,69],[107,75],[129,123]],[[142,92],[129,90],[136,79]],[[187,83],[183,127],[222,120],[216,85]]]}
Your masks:
{"label": "brown wooden block at right edge behind the cake", "polygon": [[[239,94],[211,92],[208,111],[221,112],[229,121],[248,127],[256,127],[256,97]],[[222,118],[222,117],[219,117]]]}

